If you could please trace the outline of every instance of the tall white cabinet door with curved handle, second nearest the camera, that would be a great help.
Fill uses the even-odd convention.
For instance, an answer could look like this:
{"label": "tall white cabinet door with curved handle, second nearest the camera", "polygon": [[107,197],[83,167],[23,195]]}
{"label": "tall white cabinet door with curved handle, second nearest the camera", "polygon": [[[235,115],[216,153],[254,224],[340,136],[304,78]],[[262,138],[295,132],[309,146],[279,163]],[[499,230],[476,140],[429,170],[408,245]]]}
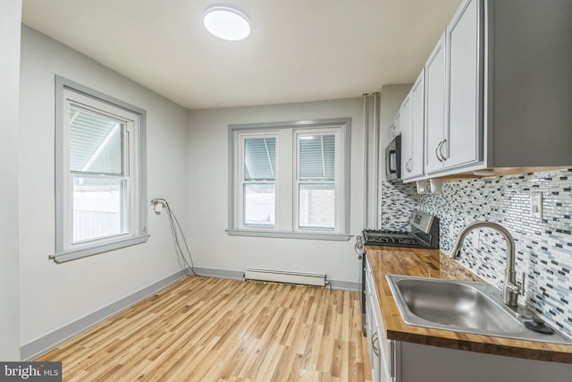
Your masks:
{"label": "tall white cabinet door with curved handle, second nearest the camera", "polygon": [[446,134],[445,33],[425,64],[425,173],[445,166]]}

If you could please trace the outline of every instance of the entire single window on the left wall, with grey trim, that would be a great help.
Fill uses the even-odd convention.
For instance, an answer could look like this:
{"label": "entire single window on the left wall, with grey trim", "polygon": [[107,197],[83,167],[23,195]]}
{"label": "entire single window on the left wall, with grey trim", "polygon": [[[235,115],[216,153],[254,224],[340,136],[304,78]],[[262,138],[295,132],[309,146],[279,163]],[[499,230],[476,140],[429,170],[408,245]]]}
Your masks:
{"label": "entire single window on the left wall, with grey trim", "polygon": [[145,111],[56,76],[56,262],[147,241]]}

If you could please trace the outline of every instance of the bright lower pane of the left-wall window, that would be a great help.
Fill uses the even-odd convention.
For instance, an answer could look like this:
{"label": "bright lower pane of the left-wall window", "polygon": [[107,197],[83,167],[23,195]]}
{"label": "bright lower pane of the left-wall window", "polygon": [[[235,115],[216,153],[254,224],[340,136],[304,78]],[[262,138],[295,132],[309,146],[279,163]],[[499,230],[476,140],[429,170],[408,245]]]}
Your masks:
{"label": "bright lower pane of the left-wall window", "polygon": [[129,232],[127,181],[74,177],[72,240],[84,242]]}

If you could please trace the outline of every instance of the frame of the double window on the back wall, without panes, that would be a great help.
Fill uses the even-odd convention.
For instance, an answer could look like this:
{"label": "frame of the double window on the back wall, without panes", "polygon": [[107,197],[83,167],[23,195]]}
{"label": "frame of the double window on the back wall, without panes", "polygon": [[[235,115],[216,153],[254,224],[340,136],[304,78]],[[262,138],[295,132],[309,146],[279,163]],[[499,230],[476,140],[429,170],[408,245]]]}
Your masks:
{"label": "frame of the double window on the back wall, without panes", "polygon": [[[229,235],[349,241],[349,166],[350,118],[328,118],[278,123],[229,124]],[[284,132],[290,133],[284,134]],[[299,134],[336,134],[335,149],[335,227],[324,229],[299,227]],[[276,135],[276,204],[273,227],[242,225],[241,182],[243,152],[240,148],[245,135],[251,137]],[[287,141],[284,138],[289,138]],[[288,147],[288,150],[284,149]],[[289,151],[289,152],[284,152]],[[290,205],[290,207],[288,207]]]}

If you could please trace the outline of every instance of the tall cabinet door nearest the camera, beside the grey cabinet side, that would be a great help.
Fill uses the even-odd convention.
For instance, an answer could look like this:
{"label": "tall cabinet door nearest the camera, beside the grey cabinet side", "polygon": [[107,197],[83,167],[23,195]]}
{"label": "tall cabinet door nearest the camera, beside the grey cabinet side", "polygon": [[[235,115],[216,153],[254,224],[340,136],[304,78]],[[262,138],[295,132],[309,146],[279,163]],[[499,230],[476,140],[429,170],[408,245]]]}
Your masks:
{"label": "tall cabinet door nearest the camera, beside the grey cabinet side", "polygon": [[449,137],[443,150],[448,168],[469,164],[481,157],[480,3],[481,0],[463,2],[447,28]]}

